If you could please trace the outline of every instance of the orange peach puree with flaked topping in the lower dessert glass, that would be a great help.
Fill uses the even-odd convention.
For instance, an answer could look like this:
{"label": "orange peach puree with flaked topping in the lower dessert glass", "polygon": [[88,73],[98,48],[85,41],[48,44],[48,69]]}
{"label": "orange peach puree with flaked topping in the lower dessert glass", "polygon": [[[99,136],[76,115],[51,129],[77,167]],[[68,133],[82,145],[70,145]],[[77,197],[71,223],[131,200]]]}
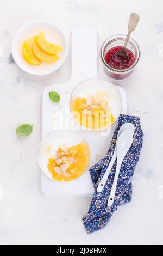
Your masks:
{"label": "orange peach puree with flaked topping in the lower dessert glass", "polygon": [[70,148],[60,145],[54,158],[48,162],[48,170],[52,173],[53,179],[64,182],[79,178],[89,164],[89,148],[83,141]]}

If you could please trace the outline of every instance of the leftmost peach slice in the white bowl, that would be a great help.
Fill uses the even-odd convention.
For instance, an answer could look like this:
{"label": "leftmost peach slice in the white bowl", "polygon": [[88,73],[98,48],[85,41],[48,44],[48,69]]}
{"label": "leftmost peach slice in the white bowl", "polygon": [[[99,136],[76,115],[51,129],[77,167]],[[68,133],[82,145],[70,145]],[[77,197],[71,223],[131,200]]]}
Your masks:
{"label": "leftmost peach slice in the white bowl", "polygon": [[33,36],[32,38],[29,38],[26,41],[24,41],[23,47],[22,47],[22,53],[23,53],[23,57],[26,60],[26,62],[28,62],[30,64],[34,64],[34,65],[41,65],[40,59],[38,59],[33,54],[33,51],[32,51],[32,46],[33,46],[35,40],[36,40],[36,36]]}

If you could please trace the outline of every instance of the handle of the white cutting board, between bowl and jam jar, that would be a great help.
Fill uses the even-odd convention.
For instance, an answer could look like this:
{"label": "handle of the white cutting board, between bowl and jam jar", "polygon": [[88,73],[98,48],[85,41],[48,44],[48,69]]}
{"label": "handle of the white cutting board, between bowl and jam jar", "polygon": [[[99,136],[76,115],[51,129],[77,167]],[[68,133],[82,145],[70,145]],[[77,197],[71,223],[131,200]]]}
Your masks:
{"label": "handle of the white cutting board, between bowl and jam jar", "polygon": [[72,31],[72,77],[86,80],[97,77],[97,31],[81,26]]}

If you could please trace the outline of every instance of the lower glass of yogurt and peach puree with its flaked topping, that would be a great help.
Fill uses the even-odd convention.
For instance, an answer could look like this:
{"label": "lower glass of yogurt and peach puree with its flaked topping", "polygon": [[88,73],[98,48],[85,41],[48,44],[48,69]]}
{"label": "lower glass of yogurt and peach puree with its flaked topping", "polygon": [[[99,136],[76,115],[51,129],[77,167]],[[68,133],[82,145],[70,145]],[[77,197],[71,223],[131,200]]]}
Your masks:
{"label": "lower glass of yogurt and peach puree with its flaked topping", "polygon": [[39,145],[37,162],[50,179],[67,182],[82,176],[90,163],[90,148],[74,131],[49,133]]}

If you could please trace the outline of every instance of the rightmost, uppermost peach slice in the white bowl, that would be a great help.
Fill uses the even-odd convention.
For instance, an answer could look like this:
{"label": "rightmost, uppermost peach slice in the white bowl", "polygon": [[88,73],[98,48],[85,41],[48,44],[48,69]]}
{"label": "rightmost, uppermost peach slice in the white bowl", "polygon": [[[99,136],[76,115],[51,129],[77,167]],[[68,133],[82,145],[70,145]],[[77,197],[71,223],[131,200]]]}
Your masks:
{"label": "rightmost, uppermost peach slice in the white bowl", "polygon": [[62,51],[61,46],[51,44],[47,41],[43,31],[40,31],[39,35],[37,36],[37,42],[42,50],[48,54],[57,54],[58,52]]}

